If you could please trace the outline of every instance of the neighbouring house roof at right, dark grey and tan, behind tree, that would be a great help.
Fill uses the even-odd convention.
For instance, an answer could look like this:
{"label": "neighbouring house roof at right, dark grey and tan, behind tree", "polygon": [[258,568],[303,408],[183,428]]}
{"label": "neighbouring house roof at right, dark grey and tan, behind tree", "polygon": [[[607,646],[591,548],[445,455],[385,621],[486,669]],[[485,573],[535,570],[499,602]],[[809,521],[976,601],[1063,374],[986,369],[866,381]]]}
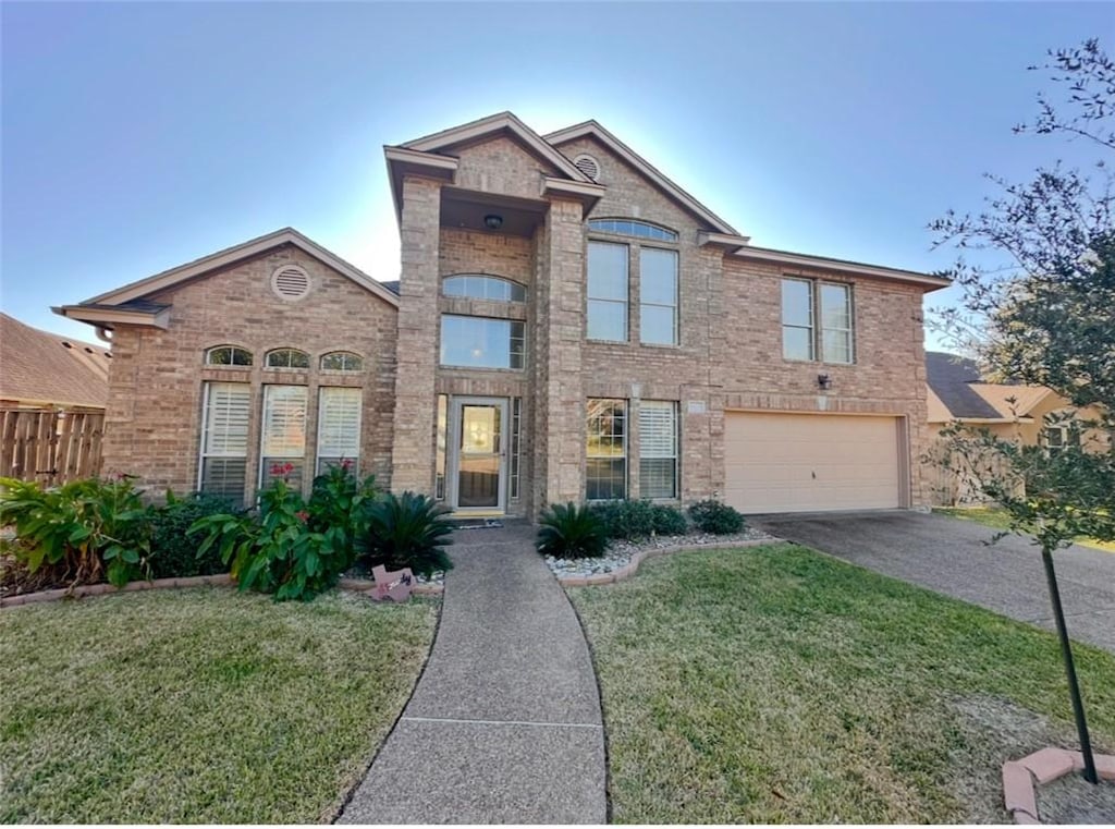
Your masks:
{"label": "neighbouring house roof at right, dark grey and tan, behind tree", "polygon": [[1027,420],[1053,394],[1044,386],[985,383],[975,360],[942,351],[925,353],[929,422]]}

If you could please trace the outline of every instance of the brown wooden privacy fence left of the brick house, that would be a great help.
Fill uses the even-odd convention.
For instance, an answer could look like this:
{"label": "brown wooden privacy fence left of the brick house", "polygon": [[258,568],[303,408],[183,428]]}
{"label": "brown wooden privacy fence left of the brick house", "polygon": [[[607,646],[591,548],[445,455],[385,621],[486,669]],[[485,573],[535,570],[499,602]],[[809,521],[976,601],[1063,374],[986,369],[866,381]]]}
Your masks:
{"label": "brown wooden privacy fence left of the brick house", "polygon": [[100,472],[103,412],[0,409],[0,476],[45,486]]}

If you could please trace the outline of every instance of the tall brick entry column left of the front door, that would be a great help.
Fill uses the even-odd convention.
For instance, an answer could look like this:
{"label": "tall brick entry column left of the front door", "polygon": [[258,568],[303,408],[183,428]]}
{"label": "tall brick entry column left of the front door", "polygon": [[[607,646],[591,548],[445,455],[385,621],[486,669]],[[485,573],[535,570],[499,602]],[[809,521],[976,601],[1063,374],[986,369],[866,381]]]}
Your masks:
{"label": "tall brick entry column left of the front door", "polygon": [[403,180],[401,274],[391,490],[434,492],[435,373],[438,363],[438,239],[442,185]]}

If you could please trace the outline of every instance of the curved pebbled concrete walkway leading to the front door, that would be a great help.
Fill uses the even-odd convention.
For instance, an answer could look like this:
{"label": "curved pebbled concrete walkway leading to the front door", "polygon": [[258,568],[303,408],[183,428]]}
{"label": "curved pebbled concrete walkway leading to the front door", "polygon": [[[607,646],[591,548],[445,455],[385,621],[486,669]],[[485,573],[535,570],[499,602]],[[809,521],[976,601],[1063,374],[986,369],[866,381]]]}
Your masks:
{"label": "curved pebbled concrete walkway leading to the front door", "polygon": [[454,533],[429,663],[338,822],[604,822],[589,648],[533,538]]}

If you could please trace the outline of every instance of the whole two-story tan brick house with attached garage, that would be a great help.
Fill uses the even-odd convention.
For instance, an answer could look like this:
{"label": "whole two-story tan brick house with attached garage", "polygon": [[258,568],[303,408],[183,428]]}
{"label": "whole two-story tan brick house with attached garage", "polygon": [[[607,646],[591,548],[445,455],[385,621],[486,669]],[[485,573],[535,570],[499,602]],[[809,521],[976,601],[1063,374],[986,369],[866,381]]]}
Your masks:
{"label": "whole two-story tan brick house with attached garage", "polygon": [[57,309],[110,331],[106,469],[250,501],[348,457],[473,514],[925,502],[946,280],[752,245],[595,122],[385,153],[398,283],[287,229]]}

